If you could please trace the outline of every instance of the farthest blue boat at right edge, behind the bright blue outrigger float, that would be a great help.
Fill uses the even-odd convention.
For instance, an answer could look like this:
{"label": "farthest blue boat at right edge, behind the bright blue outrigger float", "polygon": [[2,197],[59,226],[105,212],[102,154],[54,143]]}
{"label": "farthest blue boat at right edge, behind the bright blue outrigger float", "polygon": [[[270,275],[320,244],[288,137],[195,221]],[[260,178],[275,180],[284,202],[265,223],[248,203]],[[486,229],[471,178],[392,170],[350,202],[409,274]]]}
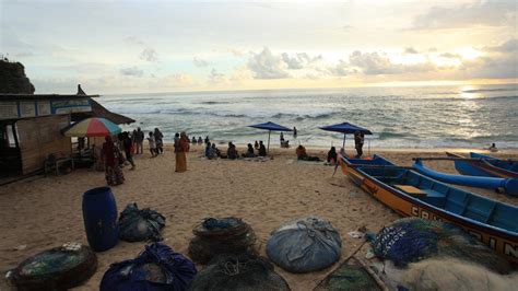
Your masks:
{"label": "farthest blue boat at right edge, behind the bright blue outrigger float", "polygon": [[[470,153],[472,159],[464,159],[463,155],[457,153],[446,152],[446,154],[450,158],[458,159],[455,160],[455,168],[462,175],[518,178],[518,171],[516,170],[518,163],[516,163],[516,161],[497,160],[473,152]],[[514,167],[514,165],[516,167]]]}

